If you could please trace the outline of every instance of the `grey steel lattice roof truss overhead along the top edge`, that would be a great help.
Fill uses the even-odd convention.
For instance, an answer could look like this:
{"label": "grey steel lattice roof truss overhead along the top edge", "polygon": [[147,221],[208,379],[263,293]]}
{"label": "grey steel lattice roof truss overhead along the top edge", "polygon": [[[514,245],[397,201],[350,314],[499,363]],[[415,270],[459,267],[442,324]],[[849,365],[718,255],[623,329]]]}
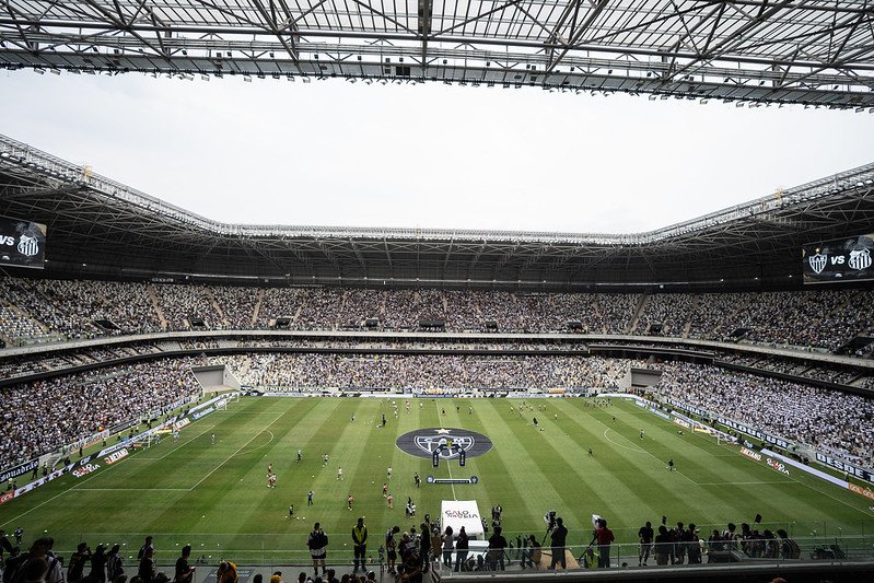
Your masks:
{"label": "grey steel lattice roof truss overhead along the top edge", "polygon": [[874,112],[871,0],[3,0],[0,67]]}

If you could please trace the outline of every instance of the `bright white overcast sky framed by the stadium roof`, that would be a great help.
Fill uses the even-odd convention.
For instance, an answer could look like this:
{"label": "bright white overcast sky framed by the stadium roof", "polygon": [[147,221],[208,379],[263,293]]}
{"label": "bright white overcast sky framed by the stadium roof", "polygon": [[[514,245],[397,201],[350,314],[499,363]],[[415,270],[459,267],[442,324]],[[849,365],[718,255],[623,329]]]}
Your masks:
{"label": "bright white overcast sky framed by the stadium roof", "polygon": [[0,132],[224,222],[631,233],[874,162],[874,115],[0,72]]}

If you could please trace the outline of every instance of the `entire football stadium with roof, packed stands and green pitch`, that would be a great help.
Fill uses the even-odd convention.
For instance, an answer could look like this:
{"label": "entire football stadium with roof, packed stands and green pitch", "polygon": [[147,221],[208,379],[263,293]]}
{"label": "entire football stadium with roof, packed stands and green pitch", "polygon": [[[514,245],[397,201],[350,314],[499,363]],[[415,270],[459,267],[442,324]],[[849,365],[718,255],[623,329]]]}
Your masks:
{"label": "entire football stadium with roof, packed stands and green pitch", "polygon": [[[866,2],[3,8],[7,88],[874,113]],[[247,224],[0,135],[0,583],[874,580],[850,166],[639,232]]]}

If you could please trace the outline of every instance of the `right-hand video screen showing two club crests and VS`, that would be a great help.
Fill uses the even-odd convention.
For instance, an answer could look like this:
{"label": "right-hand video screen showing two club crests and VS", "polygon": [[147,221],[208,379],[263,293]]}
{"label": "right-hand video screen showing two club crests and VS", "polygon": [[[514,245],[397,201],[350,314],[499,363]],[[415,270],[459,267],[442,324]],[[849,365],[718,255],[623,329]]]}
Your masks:
{"label": "right-hand video screen showing two club crests and VS", "polygon": [[805,245],[804,282],[874,280],[874,233]]}

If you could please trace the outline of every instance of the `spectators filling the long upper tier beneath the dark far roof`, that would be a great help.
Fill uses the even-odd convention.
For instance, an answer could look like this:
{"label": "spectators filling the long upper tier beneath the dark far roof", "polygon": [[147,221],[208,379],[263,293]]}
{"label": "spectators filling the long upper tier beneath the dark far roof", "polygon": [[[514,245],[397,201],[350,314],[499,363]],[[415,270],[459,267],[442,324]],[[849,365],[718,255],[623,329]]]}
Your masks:
{"label": "spectators filling the long upper tier beneath the dark far roof", "polygon": [[[430,289],[254,288],[4,278],[0,335],[13,343],[187,329],[331,330],[375,320],[377,330],[636,334],[837,350],[872,333],[874,290],[761,293],[523,293]],[[869,353],[860,352],[860,355]]]}

